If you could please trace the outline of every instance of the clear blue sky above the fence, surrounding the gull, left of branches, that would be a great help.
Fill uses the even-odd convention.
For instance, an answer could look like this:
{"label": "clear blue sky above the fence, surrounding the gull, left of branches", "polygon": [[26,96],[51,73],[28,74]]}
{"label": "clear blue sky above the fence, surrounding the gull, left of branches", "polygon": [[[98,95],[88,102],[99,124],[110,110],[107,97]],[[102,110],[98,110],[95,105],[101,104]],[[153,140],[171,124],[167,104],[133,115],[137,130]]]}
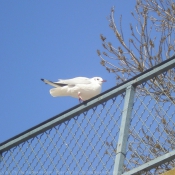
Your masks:
{"label": "clear blue sky above the fence, surrounding the gull, left of branches", "polygon": [[107,20],[112,6],[130,35],[134,3],[0,0],[0,142],[79,104],[76,98],[53,98],[41,78],[100,76],[107,80],[102,92],[116,85],[96,50],[104,50],[100,34],[118,44]]}

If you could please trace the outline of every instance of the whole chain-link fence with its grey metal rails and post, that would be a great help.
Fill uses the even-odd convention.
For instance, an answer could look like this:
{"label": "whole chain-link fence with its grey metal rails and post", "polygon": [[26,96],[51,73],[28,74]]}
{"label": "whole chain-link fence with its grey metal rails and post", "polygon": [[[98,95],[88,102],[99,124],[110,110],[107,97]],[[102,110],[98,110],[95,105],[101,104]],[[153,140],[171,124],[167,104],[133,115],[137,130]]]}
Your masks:
{"label": "whole chain-link fence with its grey metal rails and post", "polygon": [[174,67],[171,58],[1,143],[0,174],[155,175],[172,169]]}

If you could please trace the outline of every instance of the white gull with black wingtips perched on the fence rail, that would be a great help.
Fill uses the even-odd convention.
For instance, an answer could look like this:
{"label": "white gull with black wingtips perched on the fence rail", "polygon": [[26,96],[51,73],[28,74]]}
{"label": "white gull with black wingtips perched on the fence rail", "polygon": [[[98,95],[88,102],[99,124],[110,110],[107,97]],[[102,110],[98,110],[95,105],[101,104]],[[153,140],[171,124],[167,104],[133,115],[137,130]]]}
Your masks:
{"label": "white gull with black wingtips perched on the fence rail", "polygon": [[103,80],[101,77],[76,77],[66,80],[60,79],[57,82],[46,79],[41,80],[54,87],[53,89],[50,89],[50,94],[53,97],[71,96],[78,98],[80,102],[100,94],[102,83],[106,82],[106,80]]}

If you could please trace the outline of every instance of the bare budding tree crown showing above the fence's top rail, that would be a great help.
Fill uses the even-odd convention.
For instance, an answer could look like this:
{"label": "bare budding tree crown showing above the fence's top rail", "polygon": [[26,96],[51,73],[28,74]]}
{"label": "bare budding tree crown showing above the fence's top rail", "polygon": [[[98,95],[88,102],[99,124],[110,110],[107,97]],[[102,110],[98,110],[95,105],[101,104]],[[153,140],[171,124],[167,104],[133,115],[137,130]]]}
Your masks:
{"label": "bare budding tree crown showing above the fence's top rail", "polygon": [[[109,72],[116,73],[119,82],[168,59],[175,52],[175,3],[172,0],[137,0],[135,13],[131,14],[137,26],[130,24],[131,38],[127,41],[124,40],[121,27],[122,17],[118,29],[114,7],[111,9],[109,26],[120,46],[115,48],[101,35],[102,45],[107,52],[101,54],[97,50],[101,64]],[[116,64],[110,60],[116,60]]]}

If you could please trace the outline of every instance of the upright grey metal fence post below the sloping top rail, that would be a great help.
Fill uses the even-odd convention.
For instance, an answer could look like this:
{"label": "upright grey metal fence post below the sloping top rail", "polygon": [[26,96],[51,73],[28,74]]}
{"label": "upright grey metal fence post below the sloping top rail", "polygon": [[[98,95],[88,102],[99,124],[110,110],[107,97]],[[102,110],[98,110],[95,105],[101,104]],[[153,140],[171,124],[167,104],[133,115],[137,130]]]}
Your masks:
{"label": "upright grey metal fence post below the sloping top rail", "polygon": [[123,173],[127,139],[129,135],[130,118],[134,101],[134,93],[135,88],[132,85],[126,88],[125,102],[123,107],[113,175],[121,175]]}

